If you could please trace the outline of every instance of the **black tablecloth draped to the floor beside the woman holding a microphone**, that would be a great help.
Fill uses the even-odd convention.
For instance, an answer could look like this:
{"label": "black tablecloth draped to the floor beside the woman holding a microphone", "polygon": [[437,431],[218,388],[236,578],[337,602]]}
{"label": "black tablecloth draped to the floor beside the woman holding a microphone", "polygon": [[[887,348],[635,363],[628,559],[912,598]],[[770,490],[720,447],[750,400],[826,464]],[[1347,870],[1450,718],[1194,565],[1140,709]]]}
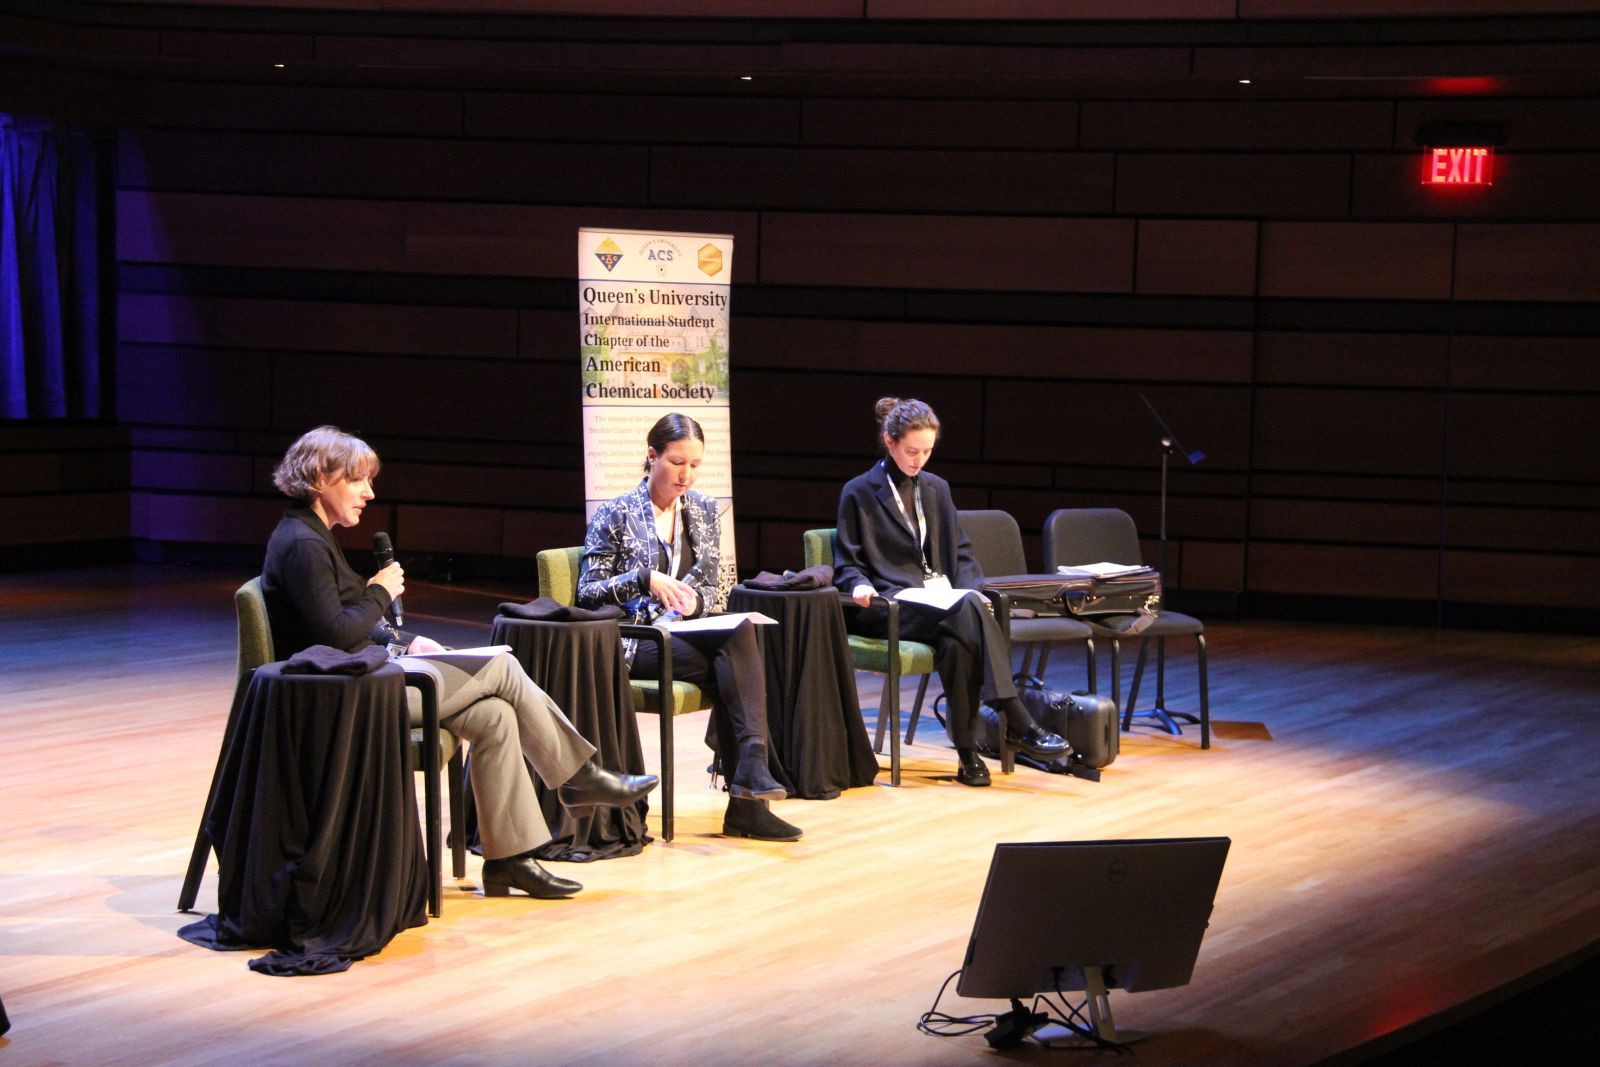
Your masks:
{"label": "black tablecloth draped to the floor beside the woman holding a microphone", "polygon": [[266,974],[330,974],[427,921],[405,673],[256,670],[205,827],[218,910],[179,933],[210,949],[272,947]]}

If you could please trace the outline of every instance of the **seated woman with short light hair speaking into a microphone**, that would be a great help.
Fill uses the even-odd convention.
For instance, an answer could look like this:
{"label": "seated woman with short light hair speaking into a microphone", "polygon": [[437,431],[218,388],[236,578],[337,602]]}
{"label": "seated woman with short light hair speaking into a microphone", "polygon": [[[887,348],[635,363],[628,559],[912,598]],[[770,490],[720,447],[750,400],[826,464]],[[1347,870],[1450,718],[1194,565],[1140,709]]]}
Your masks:
{"label": "seated woman with short light hair speaking into a microphone", "polygon": [[[384,617],[405,592],[405,569],[389,563],[363,581],[333,537],[334,526],[362,522],[376,477],[378,453],[333,426],[301,435],[274,470],[272,483],[294,499],[261,568],[274,651],[288,659],[314,645],[346,653],[387,645],[403,669],[432,675],[440,725],[472,744],[483,894],[507,896],[515,888],[546,899],[571,896],[582,886],[533,856],[550,830],[523,758],[568,808],[630,805],[656,787],[656,776],[598,766],[595,747],[507,653],[427,657],[445,646]],[[414,693],[406,689],[408,697]],[[421,721],[419,709],[413,713]]]}

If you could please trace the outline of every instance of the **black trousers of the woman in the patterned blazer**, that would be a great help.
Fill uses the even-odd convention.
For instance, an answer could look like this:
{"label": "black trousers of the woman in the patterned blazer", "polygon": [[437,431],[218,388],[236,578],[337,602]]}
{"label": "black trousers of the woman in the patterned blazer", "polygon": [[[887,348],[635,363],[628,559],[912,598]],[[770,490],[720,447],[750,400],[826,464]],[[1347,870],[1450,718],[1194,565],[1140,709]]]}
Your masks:
{"label": "black trousers of the woman in the patterned blazer", "polygon": [[[661,677],[661,661],[653,643],[638,643],[629,675]],[[731,779],[739,771],[741,744],[766,742],[766,672],[762,667],[762,649],[755,643],[755,624],[744,619],[731,630],[675,633],[672,677],[694,681],[710,697],[710,728],[717,739],[712,749],[723,777]]]}

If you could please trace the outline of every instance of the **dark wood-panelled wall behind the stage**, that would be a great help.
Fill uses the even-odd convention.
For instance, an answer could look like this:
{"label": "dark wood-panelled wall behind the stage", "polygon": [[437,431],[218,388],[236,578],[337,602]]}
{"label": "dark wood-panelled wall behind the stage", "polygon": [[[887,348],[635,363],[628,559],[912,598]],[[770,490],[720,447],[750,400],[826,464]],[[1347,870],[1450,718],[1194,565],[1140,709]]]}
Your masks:
{"label": "dark wood-panelled wall behind the stage", "polygon": [[[259,32],[166,38],[277,54]],[[451,45],[371,40],[312,51]],[[352,544],[576,542],[574,232],[659,227],[736,238],[746,569],[832,525],[882,394],[934,405],[934,469],[1011,510],[1035,558],[1056,507],[1125,507],[1154,539],[1144,394],[1206,453],[1170,483],[1190,603],[1592,617],[1600,99],[1234,90],[142,85],[115,166],[131,533],[261,542],[274,459],[333,421],[384,456]],[[1501,123],[1494,186],[1422,187],[1424,122]]]}

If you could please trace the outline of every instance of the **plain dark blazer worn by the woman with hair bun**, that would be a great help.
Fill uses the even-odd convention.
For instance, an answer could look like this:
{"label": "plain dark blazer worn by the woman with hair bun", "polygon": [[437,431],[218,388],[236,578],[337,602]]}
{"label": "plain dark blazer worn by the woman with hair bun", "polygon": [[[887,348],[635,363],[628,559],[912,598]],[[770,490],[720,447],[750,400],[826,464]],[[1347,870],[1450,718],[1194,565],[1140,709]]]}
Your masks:
{"label": "plain dark blazer worn by the woman with hair bun", "polygon": [[[955,517],[950,483],[926,470],[920,480],[928,541],[936,547],[939,568],[952,585],[978,589],[984,584],[984,571]],[[894,506],[893,493],[888,472],[877,462],[845,483],[838,494],[834,584],[846,593],[856,585],[872,585],[885,597],[922,587],[922,549]]]}

